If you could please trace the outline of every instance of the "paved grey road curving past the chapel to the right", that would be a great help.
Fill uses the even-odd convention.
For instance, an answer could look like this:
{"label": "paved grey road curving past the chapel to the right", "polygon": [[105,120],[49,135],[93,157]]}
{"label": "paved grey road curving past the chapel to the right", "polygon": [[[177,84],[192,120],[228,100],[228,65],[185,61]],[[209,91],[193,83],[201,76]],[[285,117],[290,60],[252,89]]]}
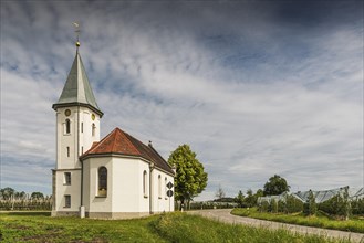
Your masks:
{"label": "paved grey road curving past the chapel to the right", "polygon": [[325,235],[329,237],[339,237],[339,239],[350,239],[352,242],[362,242],[364,243],[364,234],[360,233],[350,233],[344,231],[335,230],[325,230],[320,228],[311,226],[301,226],[287,223],[278,223],[266,220],[256,220],[246,216],[237,216],[230,214],[231,209],[215,209],[215,210],[199,210],[199,211],[188,211],[190,214],[199,214],[206,218],[211,218],[219,220],[220,222],[235,223],[235,224],[248,224],[252,226],[264,226],[269,229],[288,229],[292,232],[302,233],[302,234],[318,234]]}

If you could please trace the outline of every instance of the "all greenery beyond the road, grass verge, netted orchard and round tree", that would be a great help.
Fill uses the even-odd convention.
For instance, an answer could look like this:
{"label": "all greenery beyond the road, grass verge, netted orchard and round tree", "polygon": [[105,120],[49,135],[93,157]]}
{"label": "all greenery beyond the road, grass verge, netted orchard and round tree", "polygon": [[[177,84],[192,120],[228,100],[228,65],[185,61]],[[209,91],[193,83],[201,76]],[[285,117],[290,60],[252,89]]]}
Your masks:
{"label": "all greenery beyond the road, grass verge, netted orchard and round tree", "polygon": [[[323,229],[333,229],[364,233],[364,198],[361,194],[350,198],[349,187],[334,192],[325,191],[330,197],[319,200],[318,192],[309,190],[303,197],[301,192],[288,193],[290,186],[285,179],[274,175],[263,189],[246,194],[239,191],[235,198],[238,203],[232,214],[269,220],[281,223],[299,224]],[[304,199],[304,200],[303,200]]]}

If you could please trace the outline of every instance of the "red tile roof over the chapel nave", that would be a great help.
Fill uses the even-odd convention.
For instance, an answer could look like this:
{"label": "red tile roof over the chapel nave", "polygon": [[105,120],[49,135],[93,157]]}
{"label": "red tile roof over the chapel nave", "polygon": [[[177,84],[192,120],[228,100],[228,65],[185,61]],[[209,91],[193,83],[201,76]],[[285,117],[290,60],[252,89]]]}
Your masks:
{"label": "red tile roof over the chapel nave", "polygon": [[164,158],[152,147],[146,146],[138,139],[116,127],[112,133],[101,141],[94,142],[92,147],[83,154],[80,159],[84,160],[93,155],[126,155],[142,157],[153,162],[157,168],[174,175],[171,167]]}

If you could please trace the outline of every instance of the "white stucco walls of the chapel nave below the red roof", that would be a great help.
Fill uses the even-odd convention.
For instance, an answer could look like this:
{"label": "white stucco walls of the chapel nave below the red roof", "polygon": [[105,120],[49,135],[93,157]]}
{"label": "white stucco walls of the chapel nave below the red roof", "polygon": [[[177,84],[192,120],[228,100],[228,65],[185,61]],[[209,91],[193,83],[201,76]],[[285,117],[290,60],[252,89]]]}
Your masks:
{"label": "white stucco walls of the chapel nave below the red roof", "polygon": [[[86,212],[148,213],[152,196],[153,212],[174,210],[174,198],[166,197],[165,178],[173,177],[154,169],[152,172],[152,193],[149,191],[149,163],[137,158],[95,157],[83,161],[84,165],[84,205]],[[107,197],[97,198],[98,168],[107,168]],[[147,192],[143,192],[143,173],[147,172]],[[158,197],[158,176],[162,177],[162,197]]]}

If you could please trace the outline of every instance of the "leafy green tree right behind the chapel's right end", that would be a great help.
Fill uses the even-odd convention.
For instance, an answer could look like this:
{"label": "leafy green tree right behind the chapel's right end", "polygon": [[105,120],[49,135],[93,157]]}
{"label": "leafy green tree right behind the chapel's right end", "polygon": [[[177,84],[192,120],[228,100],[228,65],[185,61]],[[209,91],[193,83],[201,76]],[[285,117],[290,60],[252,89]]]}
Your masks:
{"label": "leafy green tree right behind the chapel's right end", "polygon": [[181,204],[189,202],[194,197],[201,193],[207,186],[207,172],[204,166],[196,158],[196,152],[191,151],[188,145],[181,145],[174,150],[168,163],[176,167],[175,177],[175,199]]}

